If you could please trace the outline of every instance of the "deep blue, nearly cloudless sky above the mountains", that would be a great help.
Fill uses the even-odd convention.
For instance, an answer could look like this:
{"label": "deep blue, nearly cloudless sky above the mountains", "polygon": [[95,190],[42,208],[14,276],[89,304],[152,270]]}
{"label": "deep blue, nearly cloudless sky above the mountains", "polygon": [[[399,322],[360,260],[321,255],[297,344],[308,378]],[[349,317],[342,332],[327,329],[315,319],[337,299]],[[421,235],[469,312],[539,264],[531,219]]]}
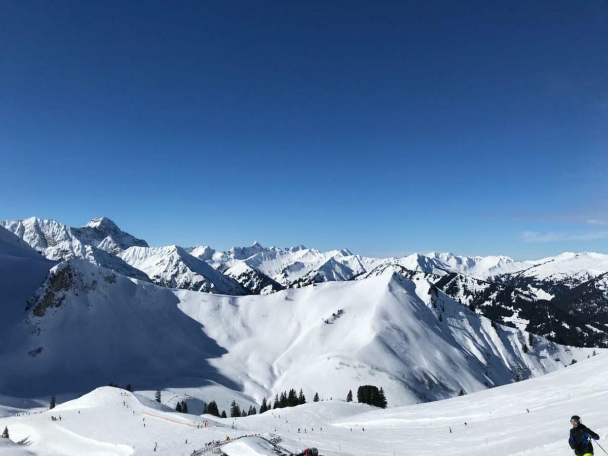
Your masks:
{"label": "deep blue, nearly cloudless sky above the mountains", "polygon": [[0,218],[608,252],[608,6],[3,2]]}

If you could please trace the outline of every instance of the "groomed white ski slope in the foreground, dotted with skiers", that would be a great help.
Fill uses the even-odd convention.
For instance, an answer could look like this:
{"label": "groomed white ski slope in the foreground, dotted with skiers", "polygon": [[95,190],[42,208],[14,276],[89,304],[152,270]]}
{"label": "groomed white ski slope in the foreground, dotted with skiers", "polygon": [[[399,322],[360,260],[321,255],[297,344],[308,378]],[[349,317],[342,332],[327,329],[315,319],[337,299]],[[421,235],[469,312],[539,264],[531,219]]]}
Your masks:
{"label": "groomed white ski slope in the foreground, dotted with skiers", "polygon": [[[162,404],[145,405],[136,395],[103,387],[54,410],[1,418],[0,428],[9,428],[12,441],[26,439],[29,445],[21,449],[29,453],[2,442],[0,455],[188,455],[209,441],[243,435],[250,437],[222,451],[276,456],[265,442],[278,437],[286,451],[314,446],[326,456],[572,455],[568,420],[575,413],[608,448],[607,375],[606,354],[599,354],[539,378],[444,401],[385,410],[322,401],[224,420],[168,412]],[[50,420],[58,415],[61,421]],[[211,427],[196,427],[205,421]]]}

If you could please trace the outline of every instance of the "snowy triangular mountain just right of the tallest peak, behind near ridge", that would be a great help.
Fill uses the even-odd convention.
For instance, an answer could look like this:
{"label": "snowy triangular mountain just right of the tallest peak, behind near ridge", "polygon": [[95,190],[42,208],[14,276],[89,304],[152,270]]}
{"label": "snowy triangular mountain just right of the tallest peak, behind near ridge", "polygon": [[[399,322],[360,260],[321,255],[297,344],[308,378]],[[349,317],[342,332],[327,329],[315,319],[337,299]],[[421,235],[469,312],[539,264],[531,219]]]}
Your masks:
{"label": "snowy triangular mountain just right of the tallest peak, behind near ridge", "polygon": [[248,294],[232,277],[221,274],[179,246],[130,247],[118,257],[145,272],[157,285],[218,294]]}

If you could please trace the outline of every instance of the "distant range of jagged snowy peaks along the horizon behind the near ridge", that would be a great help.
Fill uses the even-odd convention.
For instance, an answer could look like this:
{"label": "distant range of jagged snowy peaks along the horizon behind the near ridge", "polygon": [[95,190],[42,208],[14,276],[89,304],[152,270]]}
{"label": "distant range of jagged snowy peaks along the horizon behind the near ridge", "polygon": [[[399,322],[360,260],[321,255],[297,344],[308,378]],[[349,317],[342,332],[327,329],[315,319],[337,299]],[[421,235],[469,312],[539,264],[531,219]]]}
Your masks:
{"label": "distant range of jagged snowy peaks along the horizon behind the near ridge", "polygon": [[383,274],[424,277],[477,314],[555,342],[608,347],[608,255],[564,253],[532,261],[431,252],[370,258],[347,249],[321,252],[302,245],[149,247],[110,219],[84,227],[28,218],[0,226],[50,260],[81,258],[156,285],[225,295],[272,294],[323,282]]}

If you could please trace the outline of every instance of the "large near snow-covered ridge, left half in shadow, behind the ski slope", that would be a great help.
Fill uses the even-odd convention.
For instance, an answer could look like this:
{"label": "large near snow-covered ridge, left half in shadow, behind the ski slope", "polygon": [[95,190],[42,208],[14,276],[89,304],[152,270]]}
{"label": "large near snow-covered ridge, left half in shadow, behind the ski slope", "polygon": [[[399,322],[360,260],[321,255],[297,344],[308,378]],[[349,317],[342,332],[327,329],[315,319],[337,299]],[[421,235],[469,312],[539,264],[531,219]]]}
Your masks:
{"label": "large near snow-covered ridge, left half in shadow, behind the ski slope", "polygon": [[398,405],[542,375],[590,351],[537,336],[527,347],[527,333],[493,325],[428,280],[395,274],[234,297],[69,260],[31,293],[26,310],[5,303],[21,319],[0,336],[0,392],[212,380],[259,402],[292,387],[339,397],[371,383]]}

